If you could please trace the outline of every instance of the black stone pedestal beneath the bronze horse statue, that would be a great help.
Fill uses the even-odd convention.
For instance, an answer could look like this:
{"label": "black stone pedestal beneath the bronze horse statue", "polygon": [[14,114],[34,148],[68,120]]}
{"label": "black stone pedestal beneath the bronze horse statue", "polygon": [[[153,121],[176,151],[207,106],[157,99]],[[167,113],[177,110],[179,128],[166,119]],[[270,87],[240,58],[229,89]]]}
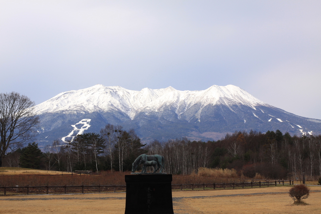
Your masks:
{"label": "black stone pedestal beneath the bronze horse statue", "polygon": [[173,214],[172,175],[125,175],[125,214]]}

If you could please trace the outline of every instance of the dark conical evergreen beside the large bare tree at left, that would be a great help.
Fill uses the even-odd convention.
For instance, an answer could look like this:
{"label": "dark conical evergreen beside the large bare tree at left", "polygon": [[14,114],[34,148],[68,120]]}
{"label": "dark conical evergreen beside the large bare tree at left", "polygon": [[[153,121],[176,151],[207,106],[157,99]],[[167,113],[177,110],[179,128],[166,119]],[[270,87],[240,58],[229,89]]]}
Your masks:
{"label": "dark conical evergreen beside the large bare tree at left", "polygon": [[38,148],[38,143],[28,143],[28,146],[22,149],[22,155],[19,158],[19,165],[23,168],[39,169],[42,158],[42,152]]}

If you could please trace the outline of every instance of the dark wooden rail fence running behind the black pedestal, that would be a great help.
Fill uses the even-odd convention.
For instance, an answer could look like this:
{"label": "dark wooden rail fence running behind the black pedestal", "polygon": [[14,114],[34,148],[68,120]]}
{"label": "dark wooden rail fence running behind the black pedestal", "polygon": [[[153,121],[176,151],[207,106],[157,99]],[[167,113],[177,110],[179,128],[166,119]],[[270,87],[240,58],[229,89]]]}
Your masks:
{"label": "dark wooden rail fence running behind the black pedestal", "polygon": [[[242,186],[242,188],[244,188],[244,186],[251,186],[251,188],[253,186],[270,186],[270,185],[275,185],[277,183],[279,184],[283,184],[285,182],[290,182],[290,185],[291,183],[293,184],[293,180],[287,180],[287,181],[284,181],[284,180],[266,180],[266,181],[259,181],[259,182],[242,182],[242,183],[190,183],[190,184],[172,184],[172,189],[174,189],[175,186],[178,186],[178,189],[180,190],[183,190],[184,189],[192,189],[194,190],[194,188],[201,188],[203,187],[203,190],[205,190],[205,187],[206,188],[213,188],[215,190],[215,188],[231,188],[233,187],[233,189],[235,187],[240,187]],[[46,194],[49,193],[49,188],[64,188],[64,192],[65,194],[67,194],[67,188],[81,188],[81,191],[82,193],[85,192],[85,188],[98,188],[98,192],[100,193],[101,192],[101,189],[102,188],[113,188],[114,192],[116,192],[116,189],[124,189],[124,187],[126,187],[126,185],[78,185],[78,186],[2,186],[0,187],[0,189],[3,189],[3,192],[4,192],[4,195],[6,195],[6,192],[7,190],[11,190],[11,192],[13,192],[14,190],[16,190],[16,192],[18,192],[18,189],[26,189],[26,192],[27,192],[27,195],[29,195],[30,193],[30,188],[46,188]],[[190,188],[188,188],[190,187]],[[71,191],[69,191],[71,192]]]}

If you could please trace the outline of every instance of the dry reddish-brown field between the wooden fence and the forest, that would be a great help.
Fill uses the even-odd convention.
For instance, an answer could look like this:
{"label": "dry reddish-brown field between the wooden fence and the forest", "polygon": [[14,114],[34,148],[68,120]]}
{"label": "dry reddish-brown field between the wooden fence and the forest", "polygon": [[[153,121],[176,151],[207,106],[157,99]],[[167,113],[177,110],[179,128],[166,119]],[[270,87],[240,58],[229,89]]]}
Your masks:
{"label": "dry reddish-brown field between the wooden fence and the forest", "polygon": [[[44,176],[47,174],[48,176]],[[72,186],[72,185],[126,185],[125,175],[130,172],[102,171],[99,175],[71,174],[57,171],[31,170],[15,167],[0,169],[0,186]],[[260,174],[253,179],[264,180]],[[234,169],[199,168],[198,174],[173,175],[172,184],[240,183],[249,182]]]}

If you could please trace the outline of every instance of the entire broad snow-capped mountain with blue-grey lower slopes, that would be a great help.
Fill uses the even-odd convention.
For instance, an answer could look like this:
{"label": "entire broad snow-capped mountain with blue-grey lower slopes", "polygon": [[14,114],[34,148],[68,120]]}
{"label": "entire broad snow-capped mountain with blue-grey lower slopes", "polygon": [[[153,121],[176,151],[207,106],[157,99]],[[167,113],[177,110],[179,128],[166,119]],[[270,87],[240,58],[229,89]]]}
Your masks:
{"label": "entire broad snow-capped mountain with blue-grey lower slopes", "polygon": [[[321,120],[275,108],[234,85],[213,85],[203,91],[172,87],[133,91],[95,85],[60,93],[36,105],[35,112],[41,118],[39,142],[44,144],[53,139],[65,141],[80,130],[99,133],[107,123],[135,129],[144,141],[218,139],[227,132],[251,129],[321,133]],[[77,127],[82,121],[85,128]]]}

